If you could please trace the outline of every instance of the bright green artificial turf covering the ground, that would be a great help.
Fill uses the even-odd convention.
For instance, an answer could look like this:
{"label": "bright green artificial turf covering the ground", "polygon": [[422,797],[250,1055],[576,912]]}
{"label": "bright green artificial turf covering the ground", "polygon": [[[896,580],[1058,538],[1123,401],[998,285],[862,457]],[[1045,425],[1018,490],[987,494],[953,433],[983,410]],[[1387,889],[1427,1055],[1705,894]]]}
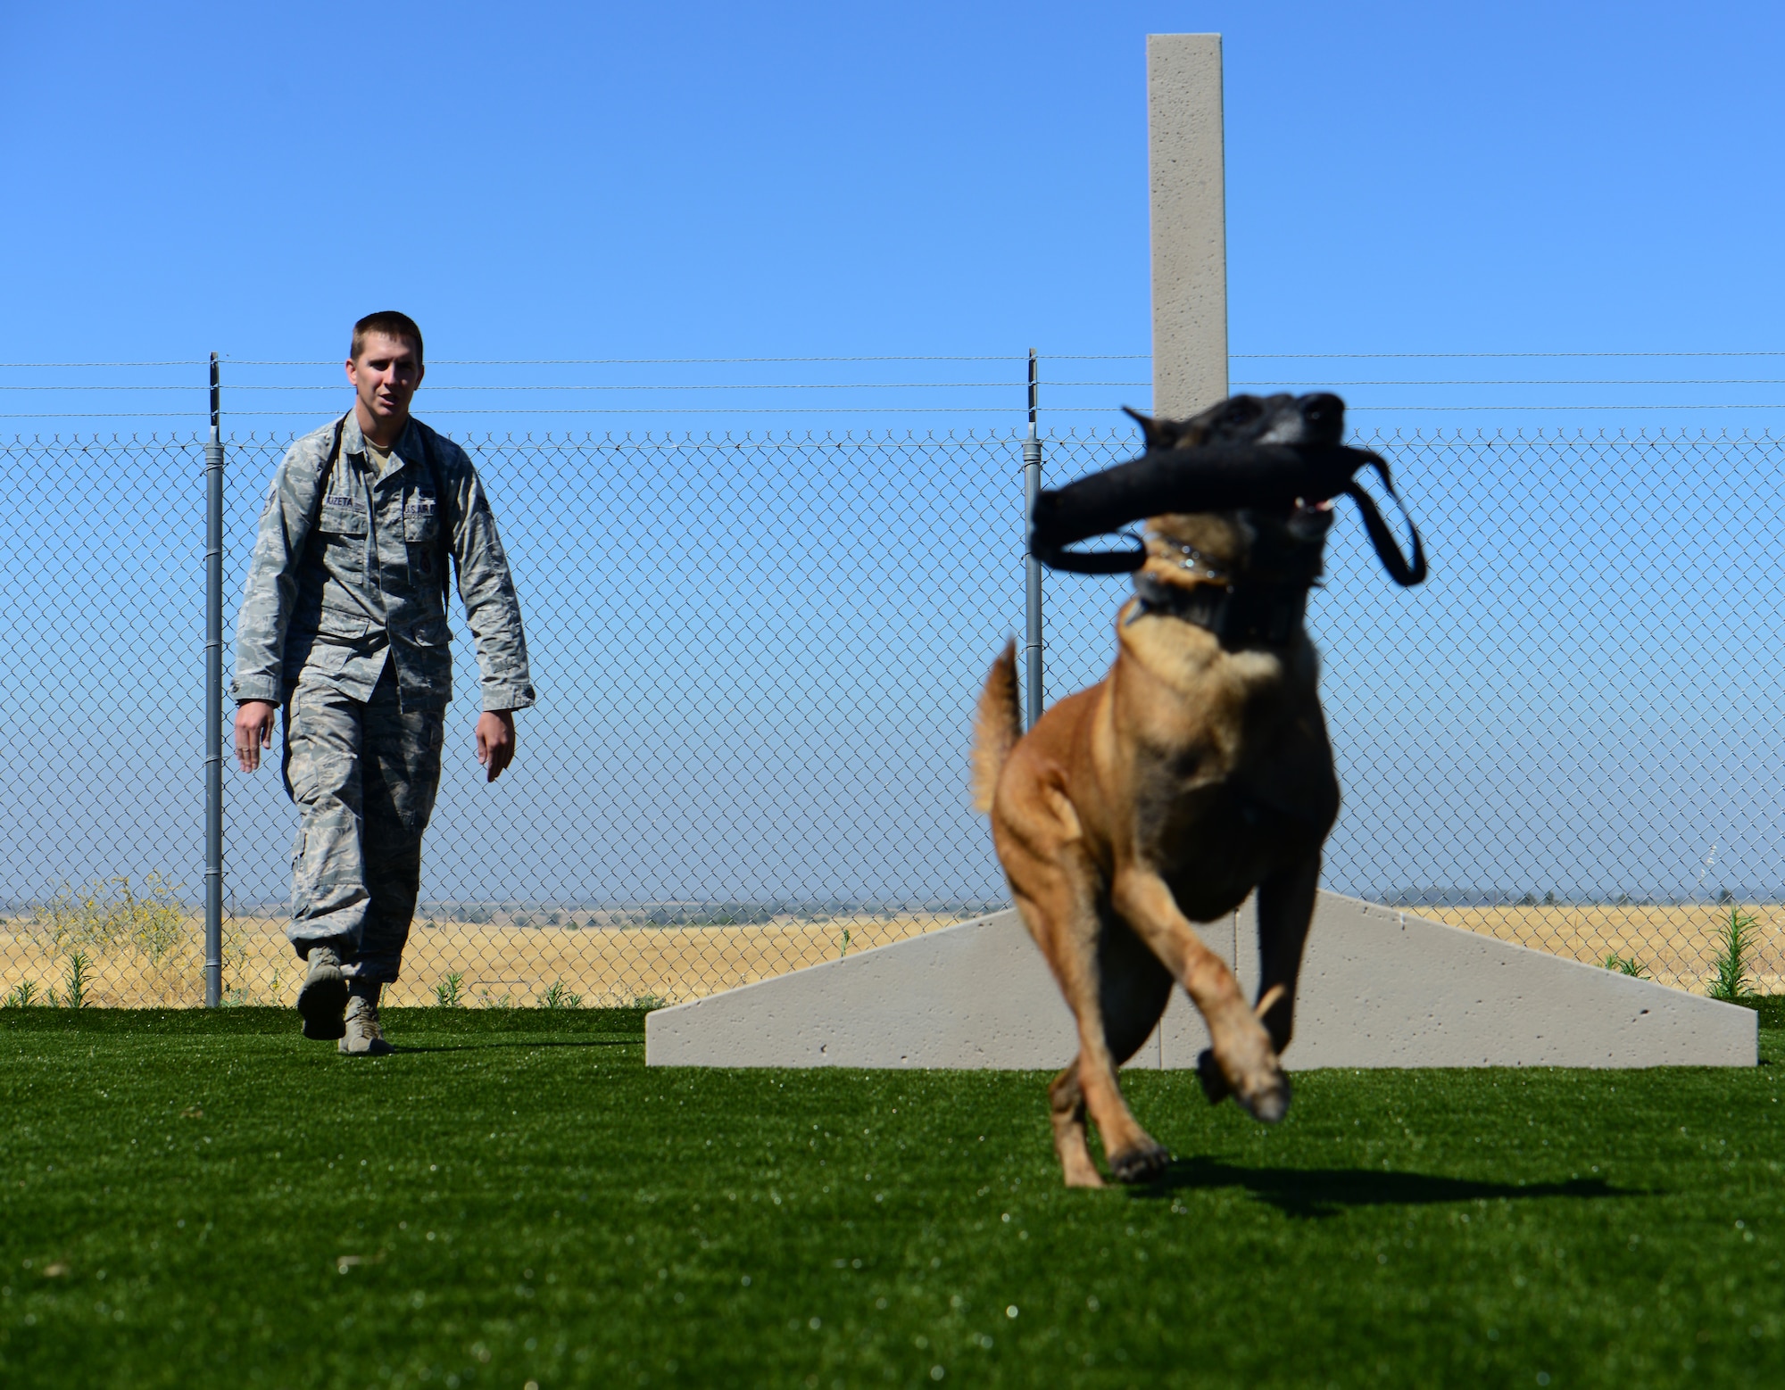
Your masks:
{"label": "bright green artificial turf covering the ground", "polygon": [[1785,1385],[1776,1065],[1308,1072],[1276,1129],[1133,1072],[1167,1179],[1066,1192],[1039,1074],[387,1030],[0,1010],[0,1385]]}

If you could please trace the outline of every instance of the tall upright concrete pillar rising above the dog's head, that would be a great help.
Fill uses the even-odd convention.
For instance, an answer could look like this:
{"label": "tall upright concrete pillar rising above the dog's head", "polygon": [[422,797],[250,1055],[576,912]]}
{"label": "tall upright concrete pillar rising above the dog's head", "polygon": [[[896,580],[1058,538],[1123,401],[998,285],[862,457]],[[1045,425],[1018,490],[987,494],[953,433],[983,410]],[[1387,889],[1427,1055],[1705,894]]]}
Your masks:
{"label": "tall upright concrete pillar rising above the dog's head", "polygon": [[1153,414],[1183,419],[1228,393],[1221,36],[1146,36],[1153,230]]}

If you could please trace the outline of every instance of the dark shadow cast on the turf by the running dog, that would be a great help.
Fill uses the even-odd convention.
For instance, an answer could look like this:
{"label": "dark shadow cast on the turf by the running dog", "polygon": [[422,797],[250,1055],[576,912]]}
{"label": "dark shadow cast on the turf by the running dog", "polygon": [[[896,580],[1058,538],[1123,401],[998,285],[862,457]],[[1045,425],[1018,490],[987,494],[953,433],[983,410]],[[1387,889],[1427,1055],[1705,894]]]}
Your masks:
{"label": "dark shadow cast on the turf by the running dog", "polygon": [[1141,1201],[1221,1187],[1242,1187],[1292,1217],[1333,1217],[1353,1206],[1430,1206],[1433,1203],[1530,1197],[1630,1197],[1603,1178],[1565,1183],[1482,1183],[1424,1172],[1373,1169],[1246,1169],[1216,1158],[1175,1158],[1157,1183],[1133,1188]]}

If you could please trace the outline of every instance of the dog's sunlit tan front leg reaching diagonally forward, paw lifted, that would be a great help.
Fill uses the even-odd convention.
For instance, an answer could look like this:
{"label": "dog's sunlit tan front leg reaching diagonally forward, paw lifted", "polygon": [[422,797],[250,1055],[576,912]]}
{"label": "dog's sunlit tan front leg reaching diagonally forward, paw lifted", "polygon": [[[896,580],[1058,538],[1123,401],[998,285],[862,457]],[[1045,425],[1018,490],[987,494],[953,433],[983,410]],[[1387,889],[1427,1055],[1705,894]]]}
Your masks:
{"label": "dog's sunlit tan front leg reaching diagonally forward, paw lifted", "polygon": [[[1233,971],[1203,946],[1196,928],[1178,910],[1171,887],[1157,873],[1130,864],[1116,873],[1110,887],[1116,910],[1183,983],[1201,1012],[1216,1065],[1233,1099],[1266,1124],[1280,1121],[1289,1112],[1289,1078],[1278,1065],[1271,1035],[1246,1008],[1246,996],[1241,994]],[[1208,1085],[1207,1078],[1203,1085]]]}

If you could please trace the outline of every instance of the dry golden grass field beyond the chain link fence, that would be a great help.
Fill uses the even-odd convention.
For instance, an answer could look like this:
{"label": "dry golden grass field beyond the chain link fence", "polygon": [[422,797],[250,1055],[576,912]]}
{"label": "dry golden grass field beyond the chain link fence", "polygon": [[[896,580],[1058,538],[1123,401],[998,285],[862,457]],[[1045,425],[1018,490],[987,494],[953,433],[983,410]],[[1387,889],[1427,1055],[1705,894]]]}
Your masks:
{"label": "dry golden grass field beyond the chain link fence", "polygon": [[[1539,951],[1603,965],[1633,960],[1651,980],[1703,994],[1728,908],[1494,906],[1408,908],[1414,915],[1483,931]],[[1785,906],[1744,906],[1756,921],[1749,983],[1785,994]],[[487,924],[419,919],[405,953],[394,1005],[434,1005],[457,989],[469,1008],[673,1003],[837,960],[957,921],[951,915],[775,917],[748,926],[519,926],[509,914]],[[111,1008],[196,1006],[203,1001],[203,921],[168,915],[154,931],[98,933],[84,944],[27,917],[0,923],[0,992],[34,1003],[64,999],[75,951],[82,1001]],[[302,976],[282,917],[228,917],[223,985],[232,1003],[291,1005]],[[457,985],[453,985],[457,976]],[[553,994],[555,992],[555,994]]]}

